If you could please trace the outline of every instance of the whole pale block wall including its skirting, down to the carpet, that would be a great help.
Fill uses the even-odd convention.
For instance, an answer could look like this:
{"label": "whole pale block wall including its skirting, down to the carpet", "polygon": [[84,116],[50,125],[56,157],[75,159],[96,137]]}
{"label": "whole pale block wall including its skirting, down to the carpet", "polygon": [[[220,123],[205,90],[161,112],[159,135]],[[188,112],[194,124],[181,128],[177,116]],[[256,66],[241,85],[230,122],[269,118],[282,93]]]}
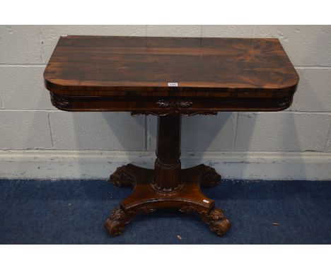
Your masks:
{"label": "whole pale block wall including its skirting, down to the carpet", "polygon": [[294,104],[283,112],[183,117],[182,163],[214,165],[226,178],[331,178],[326,25],[2,25],[0,178],[107,178],[129,161],[153,166],[156,117],[52,107],[42,72],[60,35],[279,38],[301,78]]}

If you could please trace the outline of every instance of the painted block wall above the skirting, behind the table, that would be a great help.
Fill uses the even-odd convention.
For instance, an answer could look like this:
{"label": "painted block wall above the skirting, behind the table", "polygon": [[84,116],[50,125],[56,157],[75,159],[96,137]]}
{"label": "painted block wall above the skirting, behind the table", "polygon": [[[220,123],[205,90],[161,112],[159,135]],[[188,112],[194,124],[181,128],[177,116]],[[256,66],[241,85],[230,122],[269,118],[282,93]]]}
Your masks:
{"label": "painted block wall above the skirting, behind the table", "polygon": [[60,35],[277,37],[300,76],[283,112],[183,117],[183,151],[331,152],[331,27],[268,25],[2,25],[0,149],[152,151],[156,117],[61,112],[42,72]]}

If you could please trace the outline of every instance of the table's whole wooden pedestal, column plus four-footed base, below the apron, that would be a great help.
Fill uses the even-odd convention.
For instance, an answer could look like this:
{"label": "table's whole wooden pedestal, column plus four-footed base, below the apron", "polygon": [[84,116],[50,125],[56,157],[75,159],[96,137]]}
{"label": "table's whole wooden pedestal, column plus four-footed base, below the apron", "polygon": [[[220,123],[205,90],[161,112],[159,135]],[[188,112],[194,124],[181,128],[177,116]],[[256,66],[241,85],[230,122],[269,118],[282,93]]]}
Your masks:
{"label": "table's whole wooden pedestal, column plus four-footed base, below the apron", "polygon": [[221,176],[206,165],[181,169],[181,116],[158,117],[158,139],[154,170],[132,164],[124,165],[110,175],[110,182],[119,187],[131,186],[132,194],[114,209],[105,221],[110,235],[120,235],[124,225],[139,213],[156,209],[179,209],[184,213],[198,213],[202,221],[217,235],[224,235],[231,223],[221,209],[215,209],[212,199],[202,194],[200,187],[214,186]]}

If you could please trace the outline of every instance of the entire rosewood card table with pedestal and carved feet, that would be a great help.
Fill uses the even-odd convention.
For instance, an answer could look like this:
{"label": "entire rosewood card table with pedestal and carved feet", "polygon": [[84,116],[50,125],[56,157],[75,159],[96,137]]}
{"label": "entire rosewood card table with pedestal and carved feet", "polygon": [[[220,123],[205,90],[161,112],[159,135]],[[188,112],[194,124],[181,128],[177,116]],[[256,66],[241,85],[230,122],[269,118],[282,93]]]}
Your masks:
{"label": "entire rosewood card table with pedestal and carved feet", "polygon": [[224,235],[230,222],[200,189],[221,176],[206,165],[181,169],[181,116],[284,110],[298,84],[279,40],[271,38],[65,36],[44,78],[59,110],[158,117],[154,170],[129,164],[110,175],[113,184],[134,189],[105,221],[110,235],[137,214],[161,208],[197,213]]}

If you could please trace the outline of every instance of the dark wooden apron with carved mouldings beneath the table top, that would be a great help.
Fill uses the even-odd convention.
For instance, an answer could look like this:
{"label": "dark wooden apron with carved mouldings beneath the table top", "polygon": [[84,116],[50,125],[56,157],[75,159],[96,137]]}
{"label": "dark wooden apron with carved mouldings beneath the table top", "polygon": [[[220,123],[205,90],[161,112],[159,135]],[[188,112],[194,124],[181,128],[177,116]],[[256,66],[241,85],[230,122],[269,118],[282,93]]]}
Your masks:
{"label": "dark wooden apron with carved mouldings beneath the table top", "polygon": [[221,111],[278,111],[291,105],[293,95],[278,98],[91,97],[57,95],[52,104],[66,111],[133,112],[154,115],[216,114]]}

